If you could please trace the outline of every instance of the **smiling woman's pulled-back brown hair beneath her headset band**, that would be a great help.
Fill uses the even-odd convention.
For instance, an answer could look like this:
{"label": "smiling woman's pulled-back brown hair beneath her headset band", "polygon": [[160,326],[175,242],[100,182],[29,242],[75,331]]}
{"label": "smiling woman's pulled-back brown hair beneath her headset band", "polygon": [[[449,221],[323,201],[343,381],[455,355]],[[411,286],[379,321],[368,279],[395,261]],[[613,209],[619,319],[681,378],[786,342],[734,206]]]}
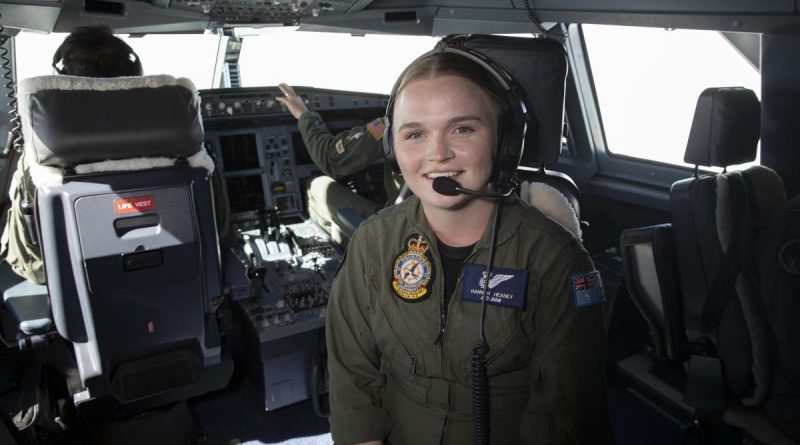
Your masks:
{"label": "smiling woman's pulled-back brown hair beneath her headset band", "polygon": [[508,110],[508,104],[501,99],[506,95],[501,92],[502,89],[498,85],[497,79],[477,62],[450,52],[433,53],[430,57],[418,61],[409,68],[400,80],[397,91],[394,92],[394,97],[398,97],[411,82],[446,75],[462,77],[486,91],[496,106],[499,116],[502,116]]}

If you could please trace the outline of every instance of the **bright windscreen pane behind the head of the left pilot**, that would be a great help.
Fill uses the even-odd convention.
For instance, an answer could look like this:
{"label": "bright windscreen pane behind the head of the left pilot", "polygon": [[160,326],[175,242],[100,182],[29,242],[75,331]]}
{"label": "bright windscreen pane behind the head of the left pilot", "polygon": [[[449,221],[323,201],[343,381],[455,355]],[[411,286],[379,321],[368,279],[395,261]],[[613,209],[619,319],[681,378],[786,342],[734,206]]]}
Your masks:
{"label": "bright windscreen pane behind the head of the left pilot", "polygon": [[[15,38],[17,79],[55,74],[53,53],[67,33],[21,32]],[[142,59],[144,74],[188,77],[197,88],[211,88],[220,38],[214,34],[148,34],[120,38]]]}

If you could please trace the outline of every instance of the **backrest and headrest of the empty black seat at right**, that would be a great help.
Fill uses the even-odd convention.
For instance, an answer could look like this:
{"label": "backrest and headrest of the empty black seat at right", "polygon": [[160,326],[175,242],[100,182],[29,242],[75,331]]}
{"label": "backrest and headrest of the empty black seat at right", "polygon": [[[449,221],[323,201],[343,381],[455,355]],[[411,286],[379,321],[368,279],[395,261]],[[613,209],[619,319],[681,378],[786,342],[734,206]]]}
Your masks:
{"label": "backrest and headrest of the empty black seat at right", "polygon": [[[752,161],[759,132],[760,104],[752,91],[707,89],[697,103],[684,160],[722,168]],[[702,330],[714,342],[728,399],[746,405],[758,405],[766,396],[769,327],[759,295],[739,265],[759,209],[783,201],[780,178],[761,166],[707,175],[696,170],[695,177],[676,182],[670,191],[690,337]]]}

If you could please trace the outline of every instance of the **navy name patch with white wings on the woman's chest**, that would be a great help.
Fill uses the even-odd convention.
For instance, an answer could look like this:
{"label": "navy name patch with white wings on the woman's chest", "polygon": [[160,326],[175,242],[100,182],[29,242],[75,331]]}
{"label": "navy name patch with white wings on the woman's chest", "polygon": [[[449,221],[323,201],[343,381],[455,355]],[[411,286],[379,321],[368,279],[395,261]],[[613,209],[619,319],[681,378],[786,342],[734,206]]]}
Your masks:
{"label": "navy name patch with white wings on the woman's chest", "polygon": [[[486,266],[467,263],[464,265],[464,286],[461,299],[480,303],[486,287]],[[528,288],[528,271],[525,269],[492,268],[486,303],[514,309],[525,308]]]}

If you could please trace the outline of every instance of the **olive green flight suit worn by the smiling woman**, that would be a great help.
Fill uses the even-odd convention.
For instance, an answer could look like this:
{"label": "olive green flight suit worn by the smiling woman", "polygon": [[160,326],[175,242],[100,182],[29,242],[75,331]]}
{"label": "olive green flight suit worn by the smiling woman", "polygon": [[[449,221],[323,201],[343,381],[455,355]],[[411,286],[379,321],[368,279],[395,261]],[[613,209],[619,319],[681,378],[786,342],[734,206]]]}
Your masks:
{"label": "olive green flight suit worn by the smiling woman", "polygon": [[[465,263],[486,267],[490,232]],[[429,278],[429,294],[408,301],[395,290],[396,271],[412,248],[419,249],[409,240],[420,235],[431,261],[407,272]],[[528,278],[520,280],[527,286],[522,309],[486,306],[490,443],[613,442],[602,305],[578,308],[572,294],[575,274],[593,270],[589,255],[557,223],[509,198],[495,267],[527,270]],[[436,238],[416,197],[356,231],[333,283],[326,322],[336,444],[472,443],[470,357],[481,305],[462,299],[463,288],[475,284],[465,282],[465,269],[445,314]]]}

